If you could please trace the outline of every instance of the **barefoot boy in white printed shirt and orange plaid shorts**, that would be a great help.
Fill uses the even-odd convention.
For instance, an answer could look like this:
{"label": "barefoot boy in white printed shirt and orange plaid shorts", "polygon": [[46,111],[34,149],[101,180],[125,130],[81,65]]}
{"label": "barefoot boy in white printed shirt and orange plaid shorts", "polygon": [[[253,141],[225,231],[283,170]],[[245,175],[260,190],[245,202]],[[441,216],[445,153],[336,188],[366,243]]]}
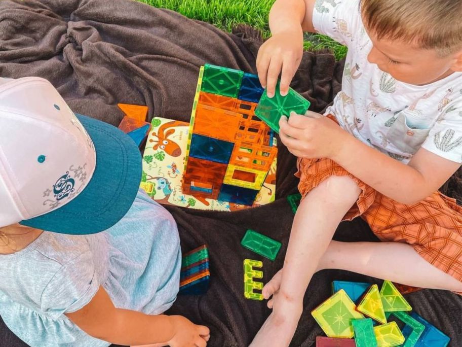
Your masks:
{"label": "barefoot boy in white printed shirt and orange plaid shorts", "polygon": [[[462,209],[437,189],[462,162],[460,0],[277,0],[257,68],[281,94],[303,31],[348,46],[342,91],[323,117],[280,121],[304,197],[284,268],[263,289],[273,307],[252,346],[287,346],[314,272],[336,268],[462,292]],[[338,124],[337,124],[338,123]],[[361,216],[383,242],[337,242]]]}

